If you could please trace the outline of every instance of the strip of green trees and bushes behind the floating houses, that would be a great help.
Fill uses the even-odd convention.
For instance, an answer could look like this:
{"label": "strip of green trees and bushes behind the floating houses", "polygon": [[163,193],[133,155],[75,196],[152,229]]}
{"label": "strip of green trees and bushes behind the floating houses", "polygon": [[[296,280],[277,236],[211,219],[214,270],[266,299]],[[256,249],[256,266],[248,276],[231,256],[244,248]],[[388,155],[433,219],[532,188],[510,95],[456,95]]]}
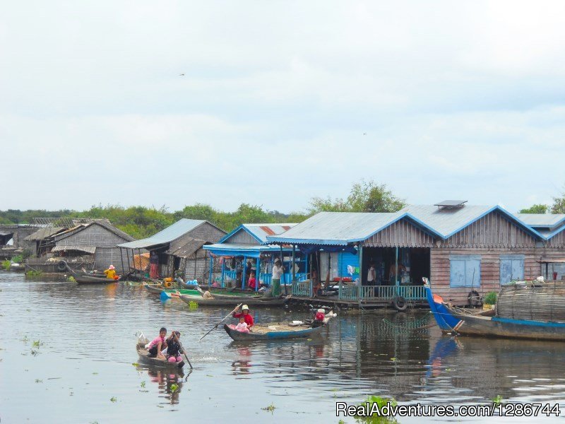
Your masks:
{"label": "strip of green trees and bushes behind the floating houses", "polygon": [[33,218],[106,218],[117,228],[132,237],[143,238],[155,234],[181,218],[206,219],[225,231],[231,231],[242,223],[299,223],[320,211],[348,212],[395,212],[405,201],[394,195],[385,184],[372,180],[356,182],[345,199],[313,197],[306,211],[282,213],[269,211],[262,205],[242,203],[233,212],[219,211],[207,204],[185,206],[180,211],[160,208],[119,205],[92,206],[88,211],[60,211],[8,209],[0,211],[0,224],[32,223]]}

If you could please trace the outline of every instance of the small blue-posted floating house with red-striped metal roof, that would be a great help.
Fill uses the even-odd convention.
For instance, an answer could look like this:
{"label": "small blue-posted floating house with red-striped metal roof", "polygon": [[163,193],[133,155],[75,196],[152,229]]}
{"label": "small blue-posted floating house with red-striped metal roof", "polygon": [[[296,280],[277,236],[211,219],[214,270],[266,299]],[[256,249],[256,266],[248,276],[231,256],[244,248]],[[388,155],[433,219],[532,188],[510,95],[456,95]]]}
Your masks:
{"label": "small blue-posted floating house with red-striped metal roof", "polygon": [[[242,224],[230,234],[214,245],[204,246],[210,253],[210,270],[221,266],[220,275],[213,278],[210,272],[208,284],[217,283],[222,285],[233,285],[246,287],[251,272],[255,273],[259,283],[270,285],[271,272],[276,259],[282,259],[285,266],[285,274],[281,277],[281,283],[292,282],[292,271],[296,280],[306,278],[309,264],[307,256],[301,252],[294,253],[295,268],[292,268],[292,247],[290,245],[269,245],[267,237],[280,235],[290,230],[296,224]],[[256,286],[258,288],[258,285]]]}

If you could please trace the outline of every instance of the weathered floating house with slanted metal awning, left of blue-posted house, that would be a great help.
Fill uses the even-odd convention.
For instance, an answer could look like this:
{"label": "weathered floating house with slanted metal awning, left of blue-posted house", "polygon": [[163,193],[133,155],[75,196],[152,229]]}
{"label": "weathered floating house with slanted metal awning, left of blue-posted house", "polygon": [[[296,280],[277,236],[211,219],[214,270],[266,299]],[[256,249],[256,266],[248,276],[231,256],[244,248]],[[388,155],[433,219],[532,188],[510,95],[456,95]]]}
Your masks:
{"label": "weathered floating house with slanted metal awning, left of blue-posted house", "polygon": [[183,218],[151,237],[119,247],[124,249],[126,268],[133,268],[134,255],[141,258],[145,252],[155,252],[160,276],[174,276],[175,271],[181,271],[186,280],[207,281],[209,255],[203,247],[218,242],[225,234],[207,220]]}

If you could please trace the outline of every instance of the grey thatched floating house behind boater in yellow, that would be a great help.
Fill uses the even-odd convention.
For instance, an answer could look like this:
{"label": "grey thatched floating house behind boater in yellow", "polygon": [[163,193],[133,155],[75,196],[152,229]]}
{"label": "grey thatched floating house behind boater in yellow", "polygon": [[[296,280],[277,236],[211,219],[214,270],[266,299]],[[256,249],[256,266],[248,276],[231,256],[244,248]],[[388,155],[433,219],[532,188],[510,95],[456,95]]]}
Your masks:
{"label": "grey thatched floating house behind boater in yellow", "polygon": [[121,249],[118,245],[134,239],[126,232],[114,227],[107,220],[93,220],[54,235],[51,252],[68,264],[81,262],[85,269],[107,269],[114,265],[117,272],[124,272]]}

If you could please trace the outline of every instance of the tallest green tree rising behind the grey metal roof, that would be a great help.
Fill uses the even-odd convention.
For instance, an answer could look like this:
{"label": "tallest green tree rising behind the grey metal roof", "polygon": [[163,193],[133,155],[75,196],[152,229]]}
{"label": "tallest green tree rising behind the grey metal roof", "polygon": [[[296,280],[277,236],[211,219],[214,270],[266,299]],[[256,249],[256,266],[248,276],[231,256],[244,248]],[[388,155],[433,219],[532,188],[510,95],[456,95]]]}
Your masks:
{"label": "tallest green tree rising behind the grey metal roof", "polygon": [[318,212],[396,212],[406,206],[404,199],[395,196],[386,184],[362,179],[352,185],[347,199],[313,197],[309,213]]}

